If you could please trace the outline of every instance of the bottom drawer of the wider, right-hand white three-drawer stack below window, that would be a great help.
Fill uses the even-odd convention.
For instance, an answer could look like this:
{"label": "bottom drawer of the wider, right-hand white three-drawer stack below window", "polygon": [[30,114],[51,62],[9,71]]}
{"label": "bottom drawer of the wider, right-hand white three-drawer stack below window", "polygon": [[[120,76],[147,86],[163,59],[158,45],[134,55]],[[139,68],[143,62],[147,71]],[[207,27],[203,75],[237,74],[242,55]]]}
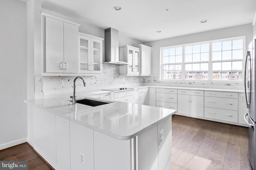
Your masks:
{"label": "bottom drawer of the wider, right-hand white three-drawer stack below window", "polygon": [[238,122],[238,112],[234,110],[204,107],[204,117],[236,123]]}

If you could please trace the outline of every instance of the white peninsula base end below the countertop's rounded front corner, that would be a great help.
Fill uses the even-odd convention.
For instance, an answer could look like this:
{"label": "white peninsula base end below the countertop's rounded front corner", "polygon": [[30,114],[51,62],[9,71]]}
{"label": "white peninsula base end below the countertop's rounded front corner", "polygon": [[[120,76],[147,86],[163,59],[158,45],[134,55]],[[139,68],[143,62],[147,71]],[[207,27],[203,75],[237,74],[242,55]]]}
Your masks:
{"label": "white peninsula base end below the countertop's rounded front corner", "polygon": [[[94,170],[171,169],[172,117],[130,140],[94,131]],[[160,132],[164,141],[160,143]]]}

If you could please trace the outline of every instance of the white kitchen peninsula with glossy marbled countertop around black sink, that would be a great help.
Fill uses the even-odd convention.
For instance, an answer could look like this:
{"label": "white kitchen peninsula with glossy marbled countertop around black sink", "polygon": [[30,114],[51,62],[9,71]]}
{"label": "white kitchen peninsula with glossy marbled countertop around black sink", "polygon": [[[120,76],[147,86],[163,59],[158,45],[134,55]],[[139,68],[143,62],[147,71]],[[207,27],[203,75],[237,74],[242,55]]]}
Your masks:
{"label": "white kitchen peninsula with glossy marbled countertop around black sink", "polygon": [[176,110],[105,101],[92,107],[68,98],[26,100],[33,106],[29,143],[55,169],[170,170]]}

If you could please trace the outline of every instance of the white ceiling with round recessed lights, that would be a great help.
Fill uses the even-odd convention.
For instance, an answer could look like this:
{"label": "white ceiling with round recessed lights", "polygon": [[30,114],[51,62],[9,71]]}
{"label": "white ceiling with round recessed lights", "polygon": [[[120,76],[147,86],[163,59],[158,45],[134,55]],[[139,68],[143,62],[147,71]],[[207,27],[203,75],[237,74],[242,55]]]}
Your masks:
{"label": "white ceiling with round recessed lights", "polygon": [[42,0],[42,8],[144,43],[252,23],[256,0]]}

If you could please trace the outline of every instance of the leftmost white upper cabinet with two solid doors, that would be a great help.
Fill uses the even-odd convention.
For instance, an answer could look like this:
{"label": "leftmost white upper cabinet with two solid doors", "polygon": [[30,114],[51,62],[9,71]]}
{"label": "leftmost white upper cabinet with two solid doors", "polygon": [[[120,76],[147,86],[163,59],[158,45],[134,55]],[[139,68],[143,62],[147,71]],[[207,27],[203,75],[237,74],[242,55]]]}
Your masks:
{"label": "leftmost white upper cabinet with two solid doors", "polygon": [[45,27],[42,30],[45,43],[45,72],[77,73],[79,24],[50,16],[44,17]]}

